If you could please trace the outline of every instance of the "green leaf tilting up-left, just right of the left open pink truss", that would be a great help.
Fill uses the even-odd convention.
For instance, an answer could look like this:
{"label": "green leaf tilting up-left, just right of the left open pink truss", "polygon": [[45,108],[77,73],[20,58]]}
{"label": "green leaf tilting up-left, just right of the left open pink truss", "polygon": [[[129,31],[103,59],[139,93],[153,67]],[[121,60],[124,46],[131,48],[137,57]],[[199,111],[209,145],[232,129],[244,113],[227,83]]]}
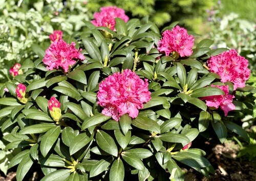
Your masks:
{"label": "green leaf tilting up-left, just right of the left open pink truss", "polygon": [[83,43],[84,49],[86,49],[86,51],[89,53],[91,58],[100,60],[102,62],[100,51],[91,38],[88,38],[88,37],[82,38],[82,43]]}

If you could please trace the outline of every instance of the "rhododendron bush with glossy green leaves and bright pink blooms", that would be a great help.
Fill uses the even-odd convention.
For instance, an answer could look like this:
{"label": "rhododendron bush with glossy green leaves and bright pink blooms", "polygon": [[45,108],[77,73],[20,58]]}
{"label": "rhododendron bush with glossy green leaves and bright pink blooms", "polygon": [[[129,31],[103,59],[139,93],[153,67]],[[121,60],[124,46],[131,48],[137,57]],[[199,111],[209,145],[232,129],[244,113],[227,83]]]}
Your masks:
{"label": "rhododendron bush with glossy green leaves and bright pink blooms", "polygon": [[[236,93],[206,63],[227,49],[211,50],[204,39],[185,56],[167,55],[158,49],[169,40],[153,22],[115,22],[116,31],[87,22],[74,33],[76,48],[72,38],[53,41],[46,51],[38,46],[46,54],[24,61],[23,74],[0,89],[5,150],[21,150],[7,164],[18,165],[18,181],[33,164],[42,181],[184,180],[184,166],[208,176],[214,168],[193,148],[195,139],[223,143],[229,130],[248,142],[233,122],[243,104],[231,101]],[[193,37],[186,36],[181,46],[191,49]],[[168,49],[178,52],[173,46]],[[215,99],[224,114],[208,104]]]}

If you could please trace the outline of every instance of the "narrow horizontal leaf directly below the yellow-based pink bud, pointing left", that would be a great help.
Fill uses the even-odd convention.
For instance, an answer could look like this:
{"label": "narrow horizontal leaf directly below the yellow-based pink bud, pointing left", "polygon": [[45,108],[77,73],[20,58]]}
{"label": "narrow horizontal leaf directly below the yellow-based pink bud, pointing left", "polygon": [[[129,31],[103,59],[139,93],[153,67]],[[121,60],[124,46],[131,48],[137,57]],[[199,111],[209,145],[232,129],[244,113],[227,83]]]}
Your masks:
{"label": "narrow horizontal leaf directly below the yellow-based pink bud, pointing left", "polygon": [[41,133],[41,132],[47,132],[48,130],[56,127],[55,124],[34,124],[31,126],[27,126],[22,128],[22,130],[19,131],[21,134],[32,134],[32,133]]}

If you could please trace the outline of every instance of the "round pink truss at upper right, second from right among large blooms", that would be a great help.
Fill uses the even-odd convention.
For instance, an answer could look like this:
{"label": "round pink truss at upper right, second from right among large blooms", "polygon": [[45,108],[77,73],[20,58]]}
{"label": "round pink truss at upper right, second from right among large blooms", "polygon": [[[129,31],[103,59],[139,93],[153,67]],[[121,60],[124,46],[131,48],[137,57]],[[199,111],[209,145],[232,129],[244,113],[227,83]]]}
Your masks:
{"label": "round pink truss at upper right, second from right among large blooms", "polygon": [[184,28],[174,27],[171,31],[166,30],[162,34],[162,39],[158,42],[158,50],[165,52],[168,56],[171,52],[178,52],[181,57],[190,56],[194,46],[193,35],[188,35]]}

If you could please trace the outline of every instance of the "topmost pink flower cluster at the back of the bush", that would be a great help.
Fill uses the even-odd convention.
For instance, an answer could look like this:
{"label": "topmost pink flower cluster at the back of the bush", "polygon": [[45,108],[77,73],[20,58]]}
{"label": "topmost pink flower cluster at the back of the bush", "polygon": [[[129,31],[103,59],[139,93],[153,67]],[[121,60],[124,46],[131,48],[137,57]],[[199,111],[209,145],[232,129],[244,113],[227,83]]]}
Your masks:
{"label": "topmost pink flower cluster at the back of the bush", "polygon": [[123,19],[125,22],[129,20],[124,10],[116,6],[102,7],[100,8],[100,12],[94,13],[93,16],[94,20],[91,21],[93,25],[96,27],[108,27],[111,30],[115,29],[116,17]]}

